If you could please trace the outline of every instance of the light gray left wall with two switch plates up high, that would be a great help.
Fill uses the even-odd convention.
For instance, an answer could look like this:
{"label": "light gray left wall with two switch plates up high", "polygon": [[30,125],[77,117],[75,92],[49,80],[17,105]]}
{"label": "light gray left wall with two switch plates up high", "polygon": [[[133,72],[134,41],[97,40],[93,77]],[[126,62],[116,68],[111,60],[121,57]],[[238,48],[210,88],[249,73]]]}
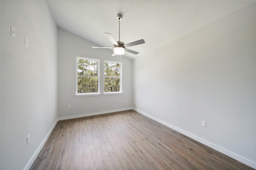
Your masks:
{"label": "light gray left wall with two switch plates up high", "polygon": [[24,169],[58,119],[57,26],[46,1],[1,0],[0,90],[0,169]]}

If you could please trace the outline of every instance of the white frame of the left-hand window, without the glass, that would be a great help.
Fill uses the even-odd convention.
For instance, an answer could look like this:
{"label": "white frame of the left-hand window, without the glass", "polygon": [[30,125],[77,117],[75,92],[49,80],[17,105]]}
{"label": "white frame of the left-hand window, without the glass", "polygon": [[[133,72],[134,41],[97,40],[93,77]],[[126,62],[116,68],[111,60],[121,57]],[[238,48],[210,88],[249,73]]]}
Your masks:
{"label": "white frame of the left-hand window, without the glass", "polygon": [[[97,71],[98,75],[97,76],[79,76],[78,75],[78,60],[88,60],[88,61],[97,61],[98,66],[97,66]],[[98,92],[91,92],[91,93],[78,93],[78,77],[97,77],[97,88]],[[82,97],[82,96],[100,96],[100,60],[98,59],[89,59],[89,58],[84,58],[84,57],[76,57],[76,97]]]}

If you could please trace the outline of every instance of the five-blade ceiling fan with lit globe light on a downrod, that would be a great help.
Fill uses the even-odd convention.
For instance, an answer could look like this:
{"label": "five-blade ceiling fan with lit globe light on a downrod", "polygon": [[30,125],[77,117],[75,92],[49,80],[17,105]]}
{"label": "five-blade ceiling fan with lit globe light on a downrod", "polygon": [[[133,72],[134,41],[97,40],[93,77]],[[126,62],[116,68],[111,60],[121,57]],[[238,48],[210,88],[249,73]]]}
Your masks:
{"label": "five-blade ceiling fan with lit globe light on a downrod", "polygon": [[111,35],[111,33],[104,33],[104,35],[106,35],[106,37],[108,37],[108,39],[113,43],[114,47],[98,47],[98,46],[92,46],[92,48],[105,48],[105,49],[114,49],[114,53],[112,54],[112,56],[115,56],[115,55],[123,55],[124,54],[124,51],[128,52],[128,53],[132,53],[132,54],[135,54],[137,55],[139,52],[137,51],[133,51],[133,50],[130,50],[130,49],[127,49],[126,47],[132,47],[134,45],[140,45],[140,44],[144,44],[145,41],[144,39],[140,39],[138,41],[134,41],[134,42],[131,42],[131,43],[123,43],[122,41],[120,41],[120,20],[122,20],[122,15],[121,14],[117,14],[116,18],[118,19],[119,21],[119,40],[116,41],[114,39],[114,37]]}

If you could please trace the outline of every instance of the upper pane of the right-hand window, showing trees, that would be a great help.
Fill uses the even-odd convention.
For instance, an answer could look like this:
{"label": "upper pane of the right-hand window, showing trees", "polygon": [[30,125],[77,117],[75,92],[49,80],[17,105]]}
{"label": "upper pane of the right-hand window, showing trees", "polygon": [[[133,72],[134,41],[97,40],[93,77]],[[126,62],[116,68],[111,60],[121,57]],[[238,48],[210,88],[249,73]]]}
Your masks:
{"label": "upper pane of the right-hand window, showing trees", "polygon": [[104,76],[120,77],[120,64],[104,63]]}

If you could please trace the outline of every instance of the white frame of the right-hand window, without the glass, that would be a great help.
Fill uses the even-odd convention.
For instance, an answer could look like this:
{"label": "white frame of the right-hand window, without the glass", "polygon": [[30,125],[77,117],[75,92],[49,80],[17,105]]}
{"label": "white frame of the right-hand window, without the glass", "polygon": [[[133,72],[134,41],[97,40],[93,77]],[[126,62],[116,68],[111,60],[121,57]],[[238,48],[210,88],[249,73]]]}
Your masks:
{"label": "white frame of the right-hand window, without the glass", "polygon": [[[104,74],[104,78],[103,78],[104,92],[103,92],[103,95],[123,94],[123,91],[122,91],[122,63],[117,62],[117,61],[106,61],[106,60],[104,60],[104,68],[103,68],[104,73],[105,73],[105,63],[120,64],[120,71],[119,71],[119,77],[105,76],[105,74]],[[118,92],[105,92],[105,77],[107,77],[107,78],[119,78],[119,91]]]}

